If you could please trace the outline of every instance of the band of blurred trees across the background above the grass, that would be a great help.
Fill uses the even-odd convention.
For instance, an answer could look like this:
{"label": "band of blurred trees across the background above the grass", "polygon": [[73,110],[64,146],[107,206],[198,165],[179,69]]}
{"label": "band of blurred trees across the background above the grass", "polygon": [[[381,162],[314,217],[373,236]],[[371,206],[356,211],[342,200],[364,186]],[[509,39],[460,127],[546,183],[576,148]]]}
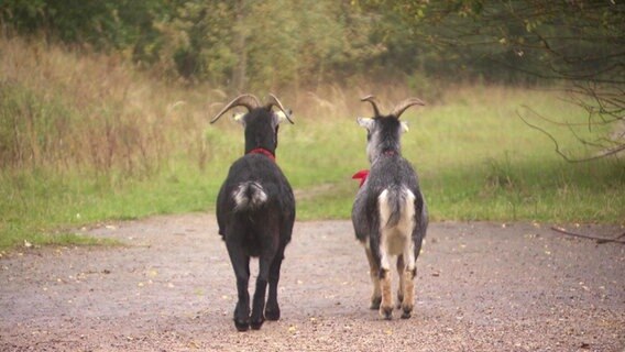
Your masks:
{"label": "band of blurred trees across the background above the grass", "polygon": [[580,141],[604,154],[625,148],[619,0],[3,0],[0,26],[6,36],[107,52],[165,79],[229,91],[564,82],[589,129],[614,130]]}

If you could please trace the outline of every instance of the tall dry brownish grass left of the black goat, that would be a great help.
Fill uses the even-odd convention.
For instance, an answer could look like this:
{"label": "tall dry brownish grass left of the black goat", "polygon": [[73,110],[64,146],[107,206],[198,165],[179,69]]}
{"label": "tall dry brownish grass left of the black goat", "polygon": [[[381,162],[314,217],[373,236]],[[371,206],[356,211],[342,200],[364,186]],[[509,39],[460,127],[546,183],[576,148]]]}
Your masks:
{"label": "tall dry brownish grass left of the black goat", "polygon": [[144,175],[202,150],[212,90],[172,87],[116,56],[0,38],[0,165]]}

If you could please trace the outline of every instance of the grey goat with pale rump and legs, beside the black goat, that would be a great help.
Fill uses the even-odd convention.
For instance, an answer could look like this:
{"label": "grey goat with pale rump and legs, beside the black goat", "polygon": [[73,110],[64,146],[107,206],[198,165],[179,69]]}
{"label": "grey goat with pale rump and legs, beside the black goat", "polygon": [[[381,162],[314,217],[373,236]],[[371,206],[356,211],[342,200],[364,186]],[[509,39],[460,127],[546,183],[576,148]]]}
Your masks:
{"label": "grey goat with pale rump and legs, beside the black goat", "polygon": [[399,116],[407,108],[424,103],[419,99],[407,99],[390,116],[381,116],[372,96],[362,101],[369,101],[375,114],[358,118],[358,123],[368,130],[371,170],[355,197],[352,222],[371,268],[371,309],[380,309],[380,315],[386,319],[393,318],[390,270],[392,256],[397,255],[397,307],[403,310],[402,318],[409,318],[415,304],[416,261],[426,235],[428,215],[417,174],[402,157],[399,138],[408,128],[399,121]]}

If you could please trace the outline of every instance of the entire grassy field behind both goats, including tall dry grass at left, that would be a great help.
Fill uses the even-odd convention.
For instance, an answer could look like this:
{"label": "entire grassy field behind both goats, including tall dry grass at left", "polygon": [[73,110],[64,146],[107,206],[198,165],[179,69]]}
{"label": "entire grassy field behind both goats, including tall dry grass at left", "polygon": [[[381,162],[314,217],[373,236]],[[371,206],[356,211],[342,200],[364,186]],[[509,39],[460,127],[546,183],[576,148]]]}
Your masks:
{"label": "entire grassy field behind both goats, including tall dry grass at left", "polygon": [[[110,74],[99,59],[57,51],[34,61],[28,47],[11,45],[4,43],[4,53],[14,63],[0,61],[11,78],[0,81],[0,248],[102,244],[74,229],[213,211],[228,166],[243,150],[237,123],[208,124],[221,107],[213,102],[230,97],[210,90],[207,98],[200,88],[122,68]],[[33,74],[40,69],[47,74]],[[296,189],[297,219],[349,218],[358,190],[351,175],[369,167],[355,117],[371,111],[358,98],[371,91],[390,106],[419,96],[377,88],[276,91],[295,111],[296,124],[281,128],[277,162]],[[552,119],[586,121],[555,92],[484,86],[449,88],[440,101],[402,117],[410,124],[403,154],[420,175],[432,220],[625,224],[623,157],[564,162],[519,119],[530,117],[524,105]],[[531,121],[549,129],[562,150],[591,153],[568,129]]]}

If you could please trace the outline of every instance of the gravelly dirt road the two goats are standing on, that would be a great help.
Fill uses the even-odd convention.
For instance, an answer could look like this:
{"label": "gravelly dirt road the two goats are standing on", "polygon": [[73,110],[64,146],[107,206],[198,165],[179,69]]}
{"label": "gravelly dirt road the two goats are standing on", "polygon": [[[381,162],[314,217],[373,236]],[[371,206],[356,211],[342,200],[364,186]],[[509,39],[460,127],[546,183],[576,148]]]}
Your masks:
{"label": "gravelly dirt road the two goats are standing on", "polygon": [[413,318],[386,321],[368,309],[351,223],[298,222],[282,271],[283,318],[249,332],[232,323],[234,275],[213,216],[85,232],[127,245],[0,258],[0,351],[625,350],[625,245],[547,226],[432,223]]}

